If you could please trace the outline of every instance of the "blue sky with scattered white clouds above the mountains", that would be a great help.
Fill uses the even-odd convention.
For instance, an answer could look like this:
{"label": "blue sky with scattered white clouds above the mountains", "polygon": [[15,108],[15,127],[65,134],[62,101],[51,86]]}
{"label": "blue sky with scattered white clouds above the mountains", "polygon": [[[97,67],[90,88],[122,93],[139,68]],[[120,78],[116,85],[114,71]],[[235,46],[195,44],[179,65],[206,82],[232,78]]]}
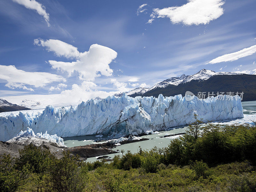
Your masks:
{"label": "blue sky with scattered white clouds above the mountains", "polygon": [[1,0],[0,97],[56,104],[203,68],[256,73],[256,1],[205,2]]}

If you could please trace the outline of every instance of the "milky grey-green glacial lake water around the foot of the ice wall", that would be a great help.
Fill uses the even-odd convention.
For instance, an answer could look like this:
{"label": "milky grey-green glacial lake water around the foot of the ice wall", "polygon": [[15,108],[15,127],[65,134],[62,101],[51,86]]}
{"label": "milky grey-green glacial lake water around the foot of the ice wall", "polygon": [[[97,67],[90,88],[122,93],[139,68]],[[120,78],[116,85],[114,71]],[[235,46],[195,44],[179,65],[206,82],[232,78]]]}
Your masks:
{"label": "milky grey-green glacial lake water around the foot of the ice wall", "polygon": [[[245,102],[242,102],[242,105],[243,105],[244,114],[256,114],[256,101],[245,101]],[[116,146],[116,148],[114,148],[112,150],[117,150],[118,153],[109,154],[107,156],[110,158],[113,158],[115,155],[122,155],[122,153],[120,152],[121,150],[124,150],[125,151],[124,153],[126,153],[127,150],[130,150],[132,153],[136,153],[139,150],[139,146],[143,150],[151,149],[154,146],[167,147],[168,144],[170,143],[170,141],[174,138],[179,137],[179,135],[171,136],[171,137],[163,137],[163,138],[161,138],[161,136],[185,133],[186,130],[187,130],[186,126],[179,126],[179,127],[173,127],[167,131],[161,131],[161,132],[159,132],[159,134],[144,135],[141,137],[148,138],[149,140]],[[102,138],[107,138],[107,135],[103,135]],[[97,143],[97,142],[94,142],[96,139],[98,139],[98,137],[96,137],[95,135],[63,137],[64,143],[67,147],[75,147],[75,146]],[[86,140],[86,141],[84,141],[84,140]],[[101,142],[98,142],[98,143],[101,143]],[[91,157],[91,158],[88,158],[86,161],[93,162],[93,161],[96,161],[96,159],[97,159],[97,157]]]}

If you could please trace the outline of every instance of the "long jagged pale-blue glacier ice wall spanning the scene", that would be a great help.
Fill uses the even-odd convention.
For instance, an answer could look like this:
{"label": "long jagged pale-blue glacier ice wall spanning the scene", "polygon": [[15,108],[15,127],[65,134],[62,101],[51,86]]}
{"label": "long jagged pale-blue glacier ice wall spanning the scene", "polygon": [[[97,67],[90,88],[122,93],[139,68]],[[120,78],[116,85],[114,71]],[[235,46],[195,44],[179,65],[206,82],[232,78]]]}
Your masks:
{"label": "long jagged pale-blue glacier ice wall spanning the scene", "polygon": [[20,111],[17,115],[0,113],[0,140],[7,141],[27,127],[35,133],[47,131],[62,137],[91,134],[121,137],[187,125],[194,121],[194,113],[205,122],[243,117],[239,96],[203,100],[192,96],[187,101],[181,95],[132,98],[124,94],[92,99],[77,107],[48,106],[44,111],[33,111]]}

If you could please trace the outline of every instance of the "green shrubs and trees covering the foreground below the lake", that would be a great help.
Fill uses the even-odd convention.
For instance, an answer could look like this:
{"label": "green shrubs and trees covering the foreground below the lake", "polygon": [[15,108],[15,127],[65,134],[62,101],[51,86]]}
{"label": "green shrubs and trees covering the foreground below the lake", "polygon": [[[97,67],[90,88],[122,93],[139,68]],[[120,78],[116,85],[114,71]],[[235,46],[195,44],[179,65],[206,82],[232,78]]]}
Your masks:
{"label": "green shrubs and trees covering the foreground below the lake", "polygon": [[29,145],[18,158],[0,157],[0,191],[255,192],[256,127],[202,127],[195,118],[167,148],[139,148],[110,163],[80,162],[69,152],[57,159]]}

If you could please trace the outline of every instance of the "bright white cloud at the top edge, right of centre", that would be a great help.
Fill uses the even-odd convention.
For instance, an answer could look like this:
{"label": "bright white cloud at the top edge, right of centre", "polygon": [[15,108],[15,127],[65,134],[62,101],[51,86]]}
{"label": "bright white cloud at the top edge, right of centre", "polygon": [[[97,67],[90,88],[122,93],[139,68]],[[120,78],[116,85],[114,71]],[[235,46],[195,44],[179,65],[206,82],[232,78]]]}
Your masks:
{"label": "bright white cloud at the top edge, right of centre", "polygon": [[221,7],[223,0],[188,0],[187,4],[180,7],[167,7],[164,9],[153,9],[148,23],[157,18],[168,17],[172,23],[183,23],[185,25],[207,24],[219,18],[224,10]]}

